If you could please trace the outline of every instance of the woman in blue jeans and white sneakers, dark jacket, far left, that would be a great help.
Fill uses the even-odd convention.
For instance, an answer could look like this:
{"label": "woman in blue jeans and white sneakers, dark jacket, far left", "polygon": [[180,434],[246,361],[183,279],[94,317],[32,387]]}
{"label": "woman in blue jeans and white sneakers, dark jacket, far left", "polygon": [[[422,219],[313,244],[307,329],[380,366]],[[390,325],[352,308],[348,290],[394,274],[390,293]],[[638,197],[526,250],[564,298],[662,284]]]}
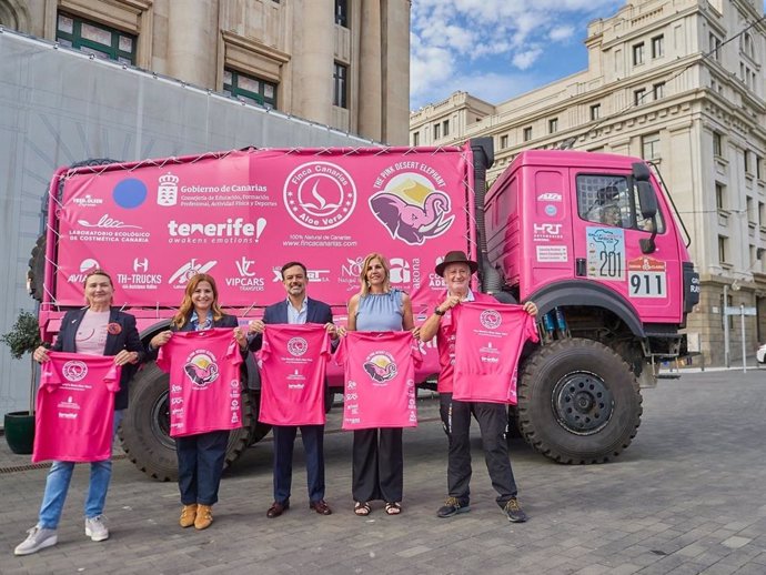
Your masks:
{"label": "woman in blue jeans and white sneakers, dark jacket, far left", "polygon": [[[144,359],[143,344],[135,329],[135,317],[111,307],[114,285],[107,272],[94,270],[88,273],[83,288],[88,307],[67,312],[51,349],[57,352],[114,356],[114,363],[122,366],[120,391],[114,397],[117,432],[123,410],[128,407],[128,385],[138,364]],[[33,357],[40,363],[49,361],[48,350],[44,346],[38,347]],[[85,535],[92,541],[103,541],[109,538],[109,529],[103,521],[103,507],[112,476],[112,462],[98,461],[92,462],[90,466],[90,484],[85,497]],[[29,536],[16,547],[16,555],[29,555],[56,545],[57,527],[73,470],[73,462],[53,462],[46,480],[38,524],[29,529]]]}

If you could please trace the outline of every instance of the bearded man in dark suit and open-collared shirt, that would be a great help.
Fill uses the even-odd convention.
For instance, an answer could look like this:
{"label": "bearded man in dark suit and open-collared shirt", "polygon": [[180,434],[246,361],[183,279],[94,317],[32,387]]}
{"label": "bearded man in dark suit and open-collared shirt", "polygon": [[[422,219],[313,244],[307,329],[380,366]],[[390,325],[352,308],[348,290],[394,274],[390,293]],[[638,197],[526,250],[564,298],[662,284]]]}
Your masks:
{"label": "bearded man in dark suit and open-collared shirt", "polygon": [[[263,330],[274,323],[319,323],[323,324],[333,340],[337,337],[332,323],[332,310],[326,303],[306,296],[309,276],[306,266],[300,262],[289,262],[282,266],[282,284],[288,292],[284,301],[269,305],[263,321],[250,322],[250,349],[261,349]],[[254,334],[254,336],[252,335]],[[306,475],[309,478],[309,507],[320,515],[330,515],[332,510],[324,501],[324,425],[301,425],[301,438],[306,454]],[[274,425],[274,503],[266,517],[274,518],[290,508],[290,487],[293,475],[293,446],[298,426]]]}

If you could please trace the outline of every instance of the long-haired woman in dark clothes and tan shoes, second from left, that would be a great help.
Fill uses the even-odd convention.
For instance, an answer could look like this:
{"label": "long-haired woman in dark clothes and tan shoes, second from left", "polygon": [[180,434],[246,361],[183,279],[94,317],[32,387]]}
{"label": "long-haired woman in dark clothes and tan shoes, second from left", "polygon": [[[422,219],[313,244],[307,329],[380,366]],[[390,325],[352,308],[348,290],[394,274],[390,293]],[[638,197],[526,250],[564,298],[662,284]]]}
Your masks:
{"label": "long-haired woman in dark clothes and tan shoes, second from left", "polygon": [[[218,302],[215,280],[200,273],[189,280],[183,301],[170,322],[170,330],[158,333],[149,342],[153,356],[168,343],[173,332],[192,332],[211,327],[232,327],[233,336],[242,353],[248,351],[248,340],[238,327],[236,317],[226,315]],[[212,506],[218,502],[218,491],[229,443],[229,430],[175,437],[179,462],[179,490],[181,492],[181,527],[194,525],[204,529],[213,522]]]}

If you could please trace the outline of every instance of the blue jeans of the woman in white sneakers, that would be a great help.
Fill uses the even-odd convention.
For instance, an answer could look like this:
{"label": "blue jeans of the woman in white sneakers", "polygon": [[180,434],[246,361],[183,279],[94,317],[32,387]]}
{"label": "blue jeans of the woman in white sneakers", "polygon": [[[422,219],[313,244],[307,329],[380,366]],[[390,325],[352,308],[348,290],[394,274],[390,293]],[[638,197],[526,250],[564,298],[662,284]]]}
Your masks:
{"label": "blue jeans of the woman in white sneakers", "polygon": [[[114,412],[114,433],[120,426],[124,411]],[[61,512],[67,501],[69,483],[72,480],[74,463],[68,461],[54,461],[46,480],[46,493],[42,496],[38,525],[46,529],[54,529],[59,526]],[[107,491],[112,478],[112,461],[95,461],[90,464],[90,484],[85,497],[85,517],[93,518],[103,513],[107,502]]]}

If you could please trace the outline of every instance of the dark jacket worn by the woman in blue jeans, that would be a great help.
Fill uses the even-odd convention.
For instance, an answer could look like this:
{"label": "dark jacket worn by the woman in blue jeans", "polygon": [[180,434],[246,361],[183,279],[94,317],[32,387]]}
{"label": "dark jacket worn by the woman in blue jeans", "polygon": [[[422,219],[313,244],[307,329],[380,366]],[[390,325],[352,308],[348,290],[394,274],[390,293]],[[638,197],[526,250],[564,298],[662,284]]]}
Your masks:
{"label": "dark jacket worn by the woman in blue jeans", "polygon": [[[61,321],[61,330],[59,335],[56,337],[56,343],[52,345],[51,350],[54,352],[65,352],[65,353],[77,353],[77,343],[74,337],[77,335],[78,327],[82,319],[85,316],[88,307],[82,310],[72,310],[67,312],[63,320]],[[112,307],[109,312],[109,323],[117,323],[120,325],[120,333],[108,333],[107,343],[103,349],[104,355],[117,355],[122,350],[128,350],[129,352],[138,352],[139,363],[141,363],[144,357],[144,347],[141,343],[141,337],[139,336],[139,331],[135,329],[135,317],[129,313],[123,313]],[[138,364],[127,364],[122,366],[122,375],[120,376],[120,391],[114,396],[114,408],[124,410],[128,407],[128,386],[130,380],[132,380]]]}

